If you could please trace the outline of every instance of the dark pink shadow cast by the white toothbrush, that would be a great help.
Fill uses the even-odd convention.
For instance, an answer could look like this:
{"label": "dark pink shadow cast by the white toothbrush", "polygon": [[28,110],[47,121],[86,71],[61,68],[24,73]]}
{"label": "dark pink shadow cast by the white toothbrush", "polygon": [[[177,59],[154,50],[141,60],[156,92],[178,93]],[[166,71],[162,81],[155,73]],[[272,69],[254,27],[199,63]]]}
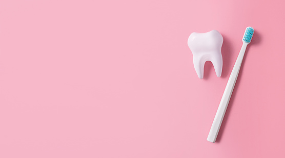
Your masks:
{"label": "dark pink shadow cast by the white toothbrush", "polygon": [[[253,44],[254,45],[255,44],[258,45],[260,42],[261,42],[261,36],[260,36],[259,32],[254,31],[254,36],[252,37],[252,42],[247,46],[246,53],[245,53],[245,56],[243,57],[243,61],[242,62],[246,62],[248,51],[250,50],[251,45],[253,45]],[[234,87],[231,99],[229,101],[226,114],[223,117],[223,121],[222,121],[220,130],[219,130],[219,134],[218,134],[217,139],[216,139],[216,143],[219,143],[221,141],[221,138],[222,138],[222,135],[223,135],[223,131],[225,131],[225,129],[226,129],[227,122],[228,122],[228,117],[229,117],[229,114],[230,114],[231,109],[232,109],[232,104],[234,103],[234,100],[235,100],[236,91],[238,91],[238,87],[239,87],[239,83],[240,83],[239,81],[240,81],[240,78],[242,77],[243,65],[244,64],[241,64],[241,67],[240,67],[240,70],[239,70],[239,74],[238,74],[238,77],[237,77],[237,80],[236,80],[236,84],[235,84],[235,87]]]}

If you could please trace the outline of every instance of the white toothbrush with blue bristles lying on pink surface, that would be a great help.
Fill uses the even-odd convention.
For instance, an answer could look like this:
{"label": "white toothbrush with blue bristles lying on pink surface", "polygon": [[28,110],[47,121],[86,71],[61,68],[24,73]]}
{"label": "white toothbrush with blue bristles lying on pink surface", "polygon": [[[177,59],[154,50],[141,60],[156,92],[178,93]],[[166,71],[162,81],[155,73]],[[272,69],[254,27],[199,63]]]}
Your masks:
{"label": "white toothbrush with blue bristles lying on pink surface", "polygon": [[223,92],[221,102],[219,104],[216,116],[214,118],[212,127],[210,129],[210,133],[207,138],[209,142],[214,143],[216,141],[223,116],[225,116],[225,113],[226,113],[226,110],[227,110],[227,107],[228,107],[228,104],[229,104],[229,101],[230,101],[230,98],[231,98],[231,95],[232,95],[232,92],[235,86],[235,82],[238,76],[238,72],[239,72],[239,69],[242,63],[243,56],[245,55],[247,45],[251,42],[253,32],[254,32],[254,29],[252,27],[247,27],[245,34],[243,35],[242,47],[239,51],[239,55],[236,59],[236,62],[232,70],[232,73],[230,75],[225,92]]}

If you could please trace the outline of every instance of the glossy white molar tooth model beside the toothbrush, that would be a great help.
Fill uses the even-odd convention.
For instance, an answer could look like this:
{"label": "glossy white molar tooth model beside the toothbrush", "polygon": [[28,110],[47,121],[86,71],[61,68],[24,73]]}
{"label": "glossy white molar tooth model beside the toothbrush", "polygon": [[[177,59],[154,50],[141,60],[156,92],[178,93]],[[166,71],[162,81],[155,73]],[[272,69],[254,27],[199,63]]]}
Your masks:
{"label": "glossy white molar tooth model beside the toothbrush", "polygon": [[211,61],[216,74],[221,76],[222,56],[221,45],[223,38],[221,34],[212,30],[207,33],[192,33],[188,38],[188,46],[193,54],[194,68],[200,79],[204,76],[204,65]]}

